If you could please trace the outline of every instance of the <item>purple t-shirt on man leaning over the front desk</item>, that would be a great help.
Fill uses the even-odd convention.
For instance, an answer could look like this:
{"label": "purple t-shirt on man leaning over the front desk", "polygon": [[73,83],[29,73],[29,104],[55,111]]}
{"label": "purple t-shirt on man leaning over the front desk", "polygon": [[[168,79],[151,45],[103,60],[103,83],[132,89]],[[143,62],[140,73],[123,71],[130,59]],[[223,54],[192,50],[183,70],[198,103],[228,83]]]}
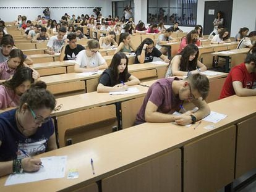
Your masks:
{"label": "purple t-shirt on man leaning over the front desk", "polygon": [[163,114],[173,114],[174,111],[179,111],[182,101],[178,95],[173,93],[173,80],[179,80],[179,78],[161,78],[150,86],[137,114],[135,125],[145,123],[145,109],[148,101],[158,106],[157,111]]}

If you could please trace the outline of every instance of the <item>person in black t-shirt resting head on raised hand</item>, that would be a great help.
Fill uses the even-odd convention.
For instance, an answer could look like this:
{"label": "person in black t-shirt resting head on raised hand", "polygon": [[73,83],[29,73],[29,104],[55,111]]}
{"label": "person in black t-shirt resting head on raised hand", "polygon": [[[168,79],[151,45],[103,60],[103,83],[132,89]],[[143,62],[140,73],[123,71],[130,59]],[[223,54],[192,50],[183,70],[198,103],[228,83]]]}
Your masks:
{"label": "person in black t-shirt resting head on raised hand", "polygon": [[150,38],[145,38],[145,40],[140,43],[135,53],[135,64],[152,62],[154,57],[160,57],[164,62],[169,62],[169,59],[155,48],[154,41]]}

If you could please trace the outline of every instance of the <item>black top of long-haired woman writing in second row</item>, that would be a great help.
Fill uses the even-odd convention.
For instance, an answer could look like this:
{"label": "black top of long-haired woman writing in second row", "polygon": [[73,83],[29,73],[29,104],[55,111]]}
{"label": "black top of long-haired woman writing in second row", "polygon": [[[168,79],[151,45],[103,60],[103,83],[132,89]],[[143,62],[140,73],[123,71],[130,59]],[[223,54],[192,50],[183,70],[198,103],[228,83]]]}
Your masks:
{"label": "black top of long-haired woman writing in second row", "polygon": [[129,77],[130,77],[130,73],[127,73],[127,77],[125,77],[124,73],[119,73],[119,79],[115,80],[113,70],[106,69],[102,73],[99,83],[101,83],[104,86],[115,86],[115,85],[121,83],[121,81],[126,82],[129,79]]}

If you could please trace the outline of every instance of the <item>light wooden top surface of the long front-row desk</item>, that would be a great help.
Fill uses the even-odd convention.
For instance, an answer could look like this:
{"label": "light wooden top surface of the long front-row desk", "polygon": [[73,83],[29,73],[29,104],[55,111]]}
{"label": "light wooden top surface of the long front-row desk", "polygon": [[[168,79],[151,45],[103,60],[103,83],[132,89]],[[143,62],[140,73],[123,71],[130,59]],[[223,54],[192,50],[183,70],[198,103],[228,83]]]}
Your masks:
{"label": "light wooden top surface of the long front-row desk", "polygon": [[[216,127],[214,130],[205,130],[203,127],[213,124],[205,121],[202,121],[195,130],[194,125],[188,128],[173,123],[143,123],[92,140],[46,152],[41,154],[40,157],[67,155],[64,178],[4,186],[7,177],[2,177],[0,178],[1,191],[59,191],[70,186],[79,185],[79,183],[86,186],[255,115],[256,105],[252,105],[255,99],[255,96],[231,96],[211,102],[209,106],[212,111],[228,115],[226,119],[214,124]],[[233,110],[230,110],[231,108]],[[117,143],[118,148],[113,147]],[[95,167],[95,175],[92,173],[91,158]],[[78,169],[79,178],[67,180],[69,169]]]}

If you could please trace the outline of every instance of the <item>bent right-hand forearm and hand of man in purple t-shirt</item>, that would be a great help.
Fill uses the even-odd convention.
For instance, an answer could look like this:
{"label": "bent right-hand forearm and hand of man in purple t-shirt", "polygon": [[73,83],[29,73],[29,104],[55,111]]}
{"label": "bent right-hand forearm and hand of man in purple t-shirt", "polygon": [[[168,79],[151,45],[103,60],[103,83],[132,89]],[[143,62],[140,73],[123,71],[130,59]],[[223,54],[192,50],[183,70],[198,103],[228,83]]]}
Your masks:
{"label": "bent right-hand forearm and hand of man in purple t-shirt", "polygon": [[[194,99],[191,102],[198,107],[198,111],[193,114],[197,120],[203,119],[210,114],[210,107],[208,106],[207,102],[203,101],[202,98]],[[192,119],[189,112],[186,112],[186,114],[178,116],[175,122],[179,125],[187,125],[192,123]]]}

